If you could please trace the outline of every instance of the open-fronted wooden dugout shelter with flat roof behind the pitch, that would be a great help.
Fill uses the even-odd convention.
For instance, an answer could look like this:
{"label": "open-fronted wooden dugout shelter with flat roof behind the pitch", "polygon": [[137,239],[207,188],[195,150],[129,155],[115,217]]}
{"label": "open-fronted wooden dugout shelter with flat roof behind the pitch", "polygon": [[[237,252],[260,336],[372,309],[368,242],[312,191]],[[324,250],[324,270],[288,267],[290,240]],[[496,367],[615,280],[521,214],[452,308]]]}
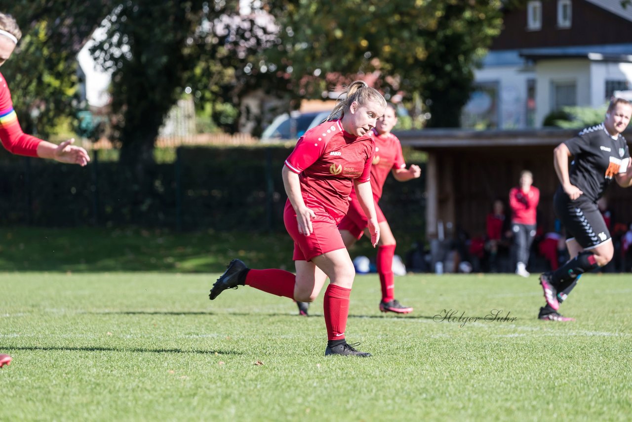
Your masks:
{"label": "open-fronted wooden dugout shelter with flat roof behind the pitch", "polygon": [[[494,199],[508,208],[509,189],[518,184],[520,171],[533,173],[540,189],[538,224],[553,230],[552,199],[559,181],[553,168],[553,149],[578,130],[448,130],[426,129],[395,133],[403,146],[428,153],[426,173],[426,235],[461,227],[470,235],[485,233],[485,217]],[[632,133],[626,133],[632,139]],[[632,189],[616,183],[607,199],[617,222],[632,222]],[[509,211],[507,209],[507,211]],[[441,237],[441,236],[439,236]]]}

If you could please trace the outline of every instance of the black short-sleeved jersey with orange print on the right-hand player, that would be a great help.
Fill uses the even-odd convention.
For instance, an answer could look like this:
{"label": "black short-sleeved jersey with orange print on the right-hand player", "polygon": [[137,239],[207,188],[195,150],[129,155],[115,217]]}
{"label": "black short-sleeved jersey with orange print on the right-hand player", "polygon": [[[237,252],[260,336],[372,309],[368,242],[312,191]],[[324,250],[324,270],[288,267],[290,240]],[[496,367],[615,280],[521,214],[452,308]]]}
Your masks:
{"label": "black short-sleeved jersey with orange print on the right-hand player", "polygon": [[586,199],[597,201],[612,177],[628,170],[630,154],[626,139],[621,135],[616,139],[611,137],[604,123],[585,128],[564,144],[574,156],[569,168],[571,184],[584,192]]}

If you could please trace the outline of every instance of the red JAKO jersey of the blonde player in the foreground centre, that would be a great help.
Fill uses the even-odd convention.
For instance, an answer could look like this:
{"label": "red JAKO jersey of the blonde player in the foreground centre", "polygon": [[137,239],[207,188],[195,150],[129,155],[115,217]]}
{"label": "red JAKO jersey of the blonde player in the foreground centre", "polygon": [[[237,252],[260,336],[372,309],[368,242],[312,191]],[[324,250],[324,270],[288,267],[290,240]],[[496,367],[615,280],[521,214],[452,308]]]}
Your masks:
{"label": "red JAKO jersey of the blonde player in the foreground centre", "polygon": [[353,180],[370,180],[373,151],[373,132],[357,137],[340,120],[325,121],[305,132],[285,165],[300,176],[303,198],[319,201],[337,224],[349,208]]}

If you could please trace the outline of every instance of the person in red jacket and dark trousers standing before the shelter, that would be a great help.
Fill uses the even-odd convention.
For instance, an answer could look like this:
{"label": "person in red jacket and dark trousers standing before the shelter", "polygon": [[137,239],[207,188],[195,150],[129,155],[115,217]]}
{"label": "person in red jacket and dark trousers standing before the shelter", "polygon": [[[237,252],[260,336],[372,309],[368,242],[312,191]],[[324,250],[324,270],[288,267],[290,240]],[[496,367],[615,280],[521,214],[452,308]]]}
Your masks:
{"label": "person in red jacket and dark trousers standing before the shelter", "polygon": [[520,173],[520,184],[509,190],[509,207],[511,208],[511,231],[513,232],[516,250],[516,274],[528,277],[526,264],[529,262],[529,251],[535,237],[535,209],[540,202],[540,190],[533,186],[531,171]]}

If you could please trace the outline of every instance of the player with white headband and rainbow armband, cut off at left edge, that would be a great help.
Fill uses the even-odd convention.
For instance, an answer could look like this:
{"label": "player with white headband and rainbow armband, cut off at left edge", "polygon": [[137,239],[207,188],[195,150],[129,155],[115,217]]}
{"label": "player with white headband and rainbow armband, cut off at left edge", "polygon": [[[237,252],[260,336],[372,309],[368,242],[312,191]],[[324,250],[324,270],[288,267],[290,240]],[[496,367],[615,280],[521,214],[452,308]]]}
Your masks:
{"label": "player with white headband and rainbow armband, cut off at left edge", "polygon": [[[0,66],[11,57],[15,46],[22,37],[18,23],[11,15],[0,12]],[[18,116],[13,110],[11,92],[0,73],[0,140],[4,148],[12,154],[28,157],[52,158],[62,163],[85,166],[90,161],[85,149],[71,146],[74,139],[55,145],[22,132]],[[0,368],[11,363],[11,356],[0,355]]]}

